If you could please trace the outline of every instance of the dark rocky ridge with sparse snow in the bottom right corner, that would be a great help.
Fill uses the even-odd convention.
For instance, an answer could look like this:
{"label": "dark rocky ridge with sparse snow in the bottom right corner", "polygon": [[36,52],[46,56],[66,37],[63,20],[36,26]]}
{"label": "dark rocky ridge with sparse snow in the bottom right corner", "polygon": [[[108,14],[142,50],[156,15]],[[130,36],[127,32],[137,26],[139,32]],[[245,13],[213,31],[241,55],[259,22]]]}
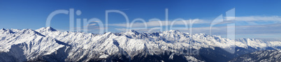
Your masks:
{"label": "dark rocky ridge with sparse snow in the bottom right corner", "polygon": [[281,61],[280,50],[265,50],[259,52],[252,52],[243,56],[238,56],[231,60],[231,62],[250,62],[250,61],[261,61],[261,62],[278,62]]}

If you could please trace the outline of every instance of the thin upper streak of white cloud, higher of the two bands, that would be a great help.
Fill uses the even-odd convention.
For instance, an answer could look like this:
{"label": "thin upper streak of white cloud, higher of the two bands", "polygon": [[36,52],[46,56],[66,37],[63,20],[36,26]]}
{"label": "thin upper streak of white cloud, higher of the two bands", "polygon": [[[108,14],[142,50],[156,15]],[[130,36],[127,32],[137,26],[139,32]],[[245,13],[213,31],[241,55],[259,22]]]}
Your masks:
{"label": "thin upper streak of white cloud, higher of the two bands", "polygon": [[[233,17],[228,17],[233,19]],[[168,21],[168,24],[166,24],[166,21],[150,21],[150,22],[135,22],[133,24],[129,23],[129,26],[132,27],[145,27],[145,24],[147,27],[150,26],[170,26],[173,23],[173,26],[175,25],[188,25],[190,21],[196,21],[193,24],[210,24],[213,20],[177,20],[177,21]],[[245,17],[235,17],[235,22],[247,22],[248,24],[254,24],[257,25],[256,22],[281,22],[281,17],[279,16],[245,16]],[[219,24],[228,24],[232,23],[229,20],[224,20],[224,22],[221,22]],[[122,24],[109,24],[109,26],[122,26],[127,27],[126,23]]]}

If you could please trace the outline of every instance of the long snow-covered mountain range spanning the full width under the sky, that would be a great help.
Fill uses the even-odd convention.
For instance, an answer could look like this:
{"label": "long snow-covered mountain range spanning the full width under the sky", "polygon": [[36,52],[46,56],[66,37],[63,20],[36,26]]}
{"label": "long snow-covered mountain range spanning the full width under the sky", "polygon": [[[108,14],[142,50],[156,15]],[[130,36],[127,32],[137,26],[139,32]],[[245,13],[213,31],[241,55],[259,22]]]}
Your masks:
{"label": "long snow-covered mountain range spanning the full width under the sky", "polygon": [[280,41],[231,40],[204,33],[163,31],[81,33],[41,29],[1,29],[0,61],[229,61]]}

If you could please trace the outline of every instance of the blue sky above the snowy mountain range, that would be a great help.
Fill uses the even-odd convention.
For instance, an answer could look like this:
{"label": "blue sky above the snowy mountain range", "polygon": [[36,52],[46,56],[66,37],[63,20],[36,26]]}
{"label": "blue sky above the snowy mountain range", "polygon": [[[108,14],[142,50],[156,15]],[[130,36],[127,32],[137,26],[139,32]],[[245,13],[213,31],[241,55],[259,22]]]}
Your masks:
{"label": "blue sky above the snowy mountain range", "polygon": [[[129,21],[137,18],[145,20],[148,29],[159,27],[150,19],[157,18],[165,21],[165,9],[168,9],[168,21],[177,18],[183,20],[201,20],[194,24],[193,33],[207,33],[210,22],[219,15],[226,17],[226,11],[235,8],[236,38],[281,38],[281,1],[259,0],[122,0],[122,1],[0,1],[0,28],[4,29],[39,29],[45,27],[46,19],[55,10],[80,10],[81,15],[75,15],[74,19],[97,18],[103,24],[106,23],[106,10],[120,10],[125,13]],[[108,14],[109,31],[120,32],[126,27],[126,20],[120,13]],[[143,27],[143,22],[136,22],[136,28]],[[97,24],[92,23],[89,32],[97,33]],[[212,35],[226,36],[226,25],[217,24],[212,29]],[[60,31],[69,31],[69,15],[59,14],[52,18],[51,26]],[[169,25],[167,25],[169,26]],[[170,26],[169,26],[170,27]],[[174,27],[183,27],[175,24]],[[75,28],[75,27],[73,27]],[[165,28],[163,28],[165,30]],[[136,29],[147,31],[147,29]],[[170,29],[168,29],[170,30]],[[186,31],[182,29],[181,31]],[[188,32],[188,31],[187,31]]]}

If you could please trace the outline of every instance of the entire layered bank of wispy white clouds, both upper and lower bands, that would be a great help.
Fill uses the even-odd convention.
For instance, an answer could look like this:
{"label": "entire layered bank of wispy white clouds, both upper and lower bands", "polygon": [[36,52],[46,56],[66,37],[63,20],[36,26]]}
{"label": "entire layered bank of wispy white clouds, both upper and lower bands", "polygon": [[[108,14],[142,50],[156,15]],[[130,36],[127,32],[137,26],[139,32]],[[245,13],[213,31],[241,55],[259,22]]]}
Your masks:
{"label": "entire layered bank of wispy white clouds, both upper and lower bands", "polygon": [[[196,19],[199,20],[199,19]],[[189,23],[189,20],[184,20],[187,22],[187,25]],[[194,24],[210,24],[212,20],[199,20],[197,22],[194,22]],[[245,16],[245,17],[236,17],[236,36],[237,38],[280,38],[281,36],[278,37],[279,34],[281,34],[281,17],[279,16]],[[245,22],[247,24],[245,24]],[[258,23],[257,23],[258,22]],[[270,24],[262,24],[262,22],[271,22]],[[165,24],[166,21],[150,21],[150,22],[135,22],[132,24],[133,29],[137,27],[144,27],[145,24],[147,24],[147,29],[134,29],[138,32],[148,32],[152,30],[153,27],[158,27],[161,29],[165,29],[166,26],[169,27],[173,23],[173,21],[168,21],[168,24]],[[219,24],[228,24],[232,23],[229,20],[226,20],[222,23]],[[130,23],[131,24],[131,23]],[[239,25],[238,25],[239,24]],[[119,26],[118,28],[122,29],[115,29],[117,31],[126,31],[126,26],[127,24],[109,24],[110,26]],[[175,25],[185,25],[184,22],[174,22],[173,26]],[[159,27],[162,26],[162,27]],[[175,26],[178,27],[178,26]],[[184,26],[180,26],[184,27]],[[131,28],[129,28],[131,29]],[[178,29],[183,32],[189,32],[189,29]],[[159,29],[155,29],[154,31],[159,31]],[[165,30],[164,30],[165,31]],[[193,33],[207,33],[209,34],[210,32],[210,26],[194,26],[192,28]],[[216,36],[225,36],[227,33],[227,27],[225,25],[222,26],[212,26],[212,35]]]}

